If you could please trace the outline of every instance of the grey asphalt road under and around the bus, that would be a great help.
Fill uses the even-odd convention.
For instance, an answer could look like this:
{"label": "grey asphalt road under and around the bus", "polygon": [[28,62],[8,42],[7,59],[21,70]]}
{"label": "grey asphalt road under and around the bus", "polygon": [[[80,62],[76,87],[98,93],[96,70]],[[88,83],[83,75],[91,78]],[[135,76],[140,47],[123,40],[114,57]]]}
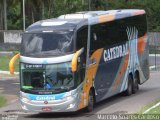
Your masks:
{"label": "grey asphalt road under and around the bus", "polygon": [[[17,115],[15,117],[18,117],[18,120],[97,120],[100,114],[136,113],[147,104],[160,98],[159,78],[159,72],[151,72],[150,79],[140,86],[140,90],[136,94],[132,96],[119,94],[106,99],[96,104],[91,113],[81,110],[76,113],[26,114],[22,111],[19,101],[0,109],[0,112],[3,113],[3,116],[5,114]],[[4,93],[18,95],[18,80],[0,80],[0,87],[6,88]]]}

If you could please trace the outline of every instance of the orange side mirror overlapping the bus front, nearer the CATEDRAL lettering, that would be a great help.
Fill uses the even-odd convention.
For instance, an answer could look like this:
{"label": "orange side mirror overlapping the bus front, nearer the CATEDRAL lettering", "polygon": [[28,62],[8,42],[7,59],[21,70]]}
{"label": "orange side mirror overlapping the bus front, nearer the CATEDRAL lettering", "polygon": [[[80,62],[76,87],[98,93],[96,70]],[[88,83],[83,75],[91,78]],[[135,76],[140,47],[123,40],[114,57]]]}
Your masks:
{"label": "orange side mirror overlapping the bus front, nearer the CATEDRAL lettering", "polygon": [[77,71],[77,63],[78,63],[78,57],[82,54],[82,52],[84,51],[84,48],[81,48],[80,50],[78,50],[72,59],[72,72],[76,72]]}

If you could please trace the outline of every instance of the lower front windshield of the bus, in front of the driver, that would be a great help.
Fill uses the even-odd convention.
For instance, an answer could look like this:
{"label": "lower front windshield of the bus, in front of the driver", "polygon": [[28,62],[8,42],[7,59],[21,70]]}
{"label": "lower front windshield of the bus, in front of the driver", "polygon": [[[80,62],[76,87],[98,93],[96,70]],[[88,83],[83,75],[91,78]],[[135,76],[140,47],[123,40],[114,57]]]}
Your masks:
{"label": "lower front windshield of the bus, in front of the driver", "polygon": [[67,91],[75,86],[71,62],[50,65],[22,64],[22,91],[52,93]]}

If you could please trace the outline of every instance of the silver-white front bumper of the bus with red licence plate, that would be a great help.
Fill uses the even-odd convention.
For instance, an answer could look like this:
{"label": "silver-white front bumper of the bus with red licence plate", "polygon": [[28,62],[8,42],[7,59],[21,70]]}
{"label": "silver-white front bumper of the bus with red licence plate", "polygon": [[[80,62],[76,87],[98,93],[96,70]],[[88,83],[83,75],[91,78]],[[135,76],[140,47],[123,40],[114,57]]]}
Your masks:
{"label": "silver-white front bumper of the bus with red licence plate", "polygon": [[74,112],[78,110],[77,97],[74,95],[55,101],[33,101],[21,97],[20,101],[25,112]]}

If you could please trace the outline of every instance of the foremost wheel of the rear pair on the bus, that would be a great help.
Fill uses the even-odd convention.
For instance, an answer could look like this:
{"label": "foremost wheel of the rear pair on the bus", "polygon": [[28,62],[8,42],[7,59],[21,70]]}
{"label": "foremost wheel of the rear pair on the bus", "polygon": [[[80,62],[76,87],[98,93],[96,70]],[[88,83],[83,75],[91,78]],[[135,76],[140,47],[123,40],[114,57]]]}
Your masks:
{"label": "foremost wheel of the rear pair on the bus", "polygon": [[133,88],[133,80],[131,75],[128,76],[128,87],[127,90],[125,91],[126,96],[130,96],[132,94],[132,88]]}

